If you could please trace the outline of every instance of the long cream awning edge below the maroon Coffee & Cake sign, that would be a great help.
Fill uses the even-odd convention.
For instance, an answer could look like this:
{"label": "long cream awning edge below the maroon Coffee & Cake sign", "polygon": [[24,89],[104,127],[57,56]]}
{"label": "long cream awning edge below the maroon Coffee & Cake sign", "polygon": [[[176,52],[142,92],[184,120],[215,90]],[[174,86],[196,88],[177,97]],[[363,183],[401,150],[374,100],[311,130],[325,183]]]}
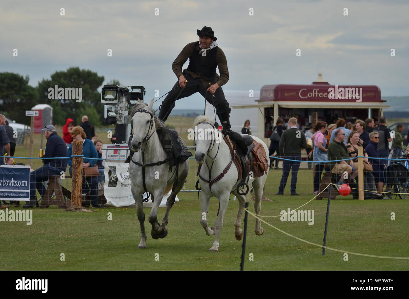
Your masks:
{"label": "long cream awning edge below the maroon Coffee & Cake sign", "polygon": [[270,101],[270,102],[263,102],[263,104],[258,104],[258,105],[236,105],[236,106],[231,106],[232,108],[235,109],[246,109],[246,108],[266,108],[266,107],[272,107],[274,103],[277,103],[280,107],[283,108],[335,108],[335,109],[368,109],[368,108],[373,108],[373,109],[387,109],[389,108],[389,105],[382,105],[380,102],[361,102],[361,103],[356,103],[352,102],[351,103],[337,103],[336,101],[334,102],[301,102],[301,101]]}

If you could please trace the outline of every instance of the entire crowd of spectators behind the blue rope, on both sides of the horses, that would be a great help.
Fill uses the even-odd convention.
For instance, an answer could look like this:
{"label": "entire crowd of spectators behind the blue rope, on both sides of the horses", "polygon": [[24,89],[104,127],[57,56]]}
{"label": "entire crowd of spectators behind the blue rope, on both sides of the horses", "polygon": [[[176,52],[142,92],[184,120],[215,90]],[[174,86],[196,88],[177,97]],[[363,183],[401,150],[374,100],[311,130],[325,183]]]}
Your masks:
{"label": "entire crowd of spectators behind the blue rope, on both sides of the horses", "polygon": [[[321,176],[324,172],[330,172],[339,176],[336,184],[339,186],[348,183],[351,188],[358,188],[354,179],[358,176],[358,148],[362,147],[364,153],[364,198],[365,199],[391,199],[391,185],[384,178],[384,169],[388,166],[389,142],[392,141],[392,153],[394,158],[402,156],[405,146],[409,141],[407,135],[402,136],[403,124],[398,124],[394,130],[393,138],[386,127],[386,118],[381,116],[379,123],[375,124],[372,118],[365,121],[356,120],[355,124],[346,123],[342,118],[336,123],[328,125],[319,121],[314,127],[310,127],[305,133],[299,125],[296,117],[288,120],[288,129],[284,128],[283,118],[276,120],[276,125],[270,136],[269,155],[283,158],[283,173],[276,195],[283,195],[288,175],[291,170],[290,195],[299,195],[296,192],[297,174],[301,161],[301,150],[306,149],[308,157],[313,159],[315,175],[313,181],[313,194],[318,194]],[[15,140],[12,131],[7,128],[6,118],[0,114],[0,163],[13,165]],[[57,134],[53,125],[47,125],[43,129],[47,145],[43,154],[43,166],[31,172],[30,175],[30,201],[24,208],[38,206],[36,190],[40,199],[44,195],[46,187],[43,182],[48,181],[49,176],[59,176],[65,173],[67,165],[72,175],[72,141],[83,142],[83,167],[98,166],[99,175],[83,176],[83,195],[89,195],[94,208],[100,208],[98,204],[98,190],[103,189],[105,181],[104,166],[102,160],[102,141],[94,132],[94,127],[83,116],[81,125],[75,126],[74,120],[67,118],[63,126],[63,137]],[[242,134],[251,134],[250,121],[246,120]],[[11,136],[10,136],[11,135]],[[312,141],[312,148],[308,148],[308,138]],[[12,145],[14,143],[14,146]],[[402,146],[402,143],[404,146]],[[275,154],[275,155],[274,155]],[[6,158],[4,158],[6,156]],[[40,157],[40,155],[39,155]],[[52,158],[52,159],[49,159]],[[384,159],[382,159],[384,158]],[[270,167],[278,169],[279,159],[272,158]],[[347,174],[347,176],[345,176]],[[386,185],[386,189],[384,187]],[[7,208],[0,205],[0,208]]]}

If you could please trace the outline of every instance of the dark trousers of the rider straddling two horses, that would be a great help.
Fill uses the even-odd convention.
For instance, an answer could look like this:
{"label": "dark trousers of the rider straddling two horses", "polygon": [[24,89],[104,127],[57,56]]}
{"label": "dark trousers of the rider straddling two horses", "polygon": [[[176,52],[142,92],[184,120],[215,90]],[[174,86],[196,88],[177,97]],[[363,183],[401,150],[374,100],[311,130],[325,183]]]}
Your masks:
{"label": "dark trousers of the rider straddling two horses", "polygon": [[[171,114],[172,109],[175,107],[176,98],[186,98],[187,96],[191,96],[196,92],[200,92],[200,94],[206,98],[207,102],[214,105],[214,107],[216,108],[216,114],[219,116],[221,124],[223,124],[223,120],[226,120],[226,116],[226,121],[228,121],[229,103],[227,103],[222,88],[219,87],[218,89],[216,89],[216,92],[214,94],[211,94],[209,91],[206,92],[206,89],[208,89],[210,85],[207,87],[203,87],[202,80],[193,79],[193,77],[186,72],[183,73],[183,76],[187,80],[186,86],[184,88],[180,87],[179,80],[175,85],[173,85],[172,91],[169,92],[169,94],[162,102],[162,107],[160,108],[158,117],[163,121],[168,118],[169,114]],[[180,92],[181,90],[182,92]],[[180,95],[178,97],[179,92]]]}

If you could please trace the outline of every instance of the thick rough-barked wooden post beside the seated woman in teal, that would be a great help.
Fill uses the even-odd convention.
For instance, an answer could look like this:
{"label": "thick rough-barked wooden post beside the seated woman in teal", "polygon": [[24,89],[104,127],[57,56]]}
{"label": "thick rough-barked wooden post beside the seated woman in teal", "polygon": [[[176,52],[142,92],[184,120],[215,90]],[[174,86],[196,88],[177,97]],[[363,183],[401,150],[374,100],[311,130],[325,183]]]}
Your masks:
{"label": "thick rough-barked wooden post beside the seated woman in teal", "polygon": [[[82,155],[82,141],[72,141],[72,155]],[[82,157],[72,157],[72,204],[81,208]]]}

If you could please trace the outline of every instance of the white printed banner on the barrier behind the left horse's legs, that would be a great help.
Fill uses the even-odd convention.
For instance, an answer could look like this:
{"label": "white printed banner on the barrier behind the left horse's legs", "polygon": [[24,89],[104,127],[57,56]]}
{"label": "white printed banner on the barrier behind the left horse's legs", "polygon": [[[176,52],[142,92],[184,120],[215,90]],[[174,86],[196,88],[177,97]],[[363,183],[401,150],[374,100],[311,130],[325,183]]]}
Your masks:
{"label": "white printed banner on the barrier behind the left horse's legs", "polygon": [[[104,195],[106,198],[106,205],[114,207],[127,207],[129,205],[135,205],[135,200],[130,191],[130,178],[128,173],[128,163],[107,162],[104,163],[105,170],[105,183],[104,183]],[[166,207],[166,200],[171,194],[163,196],[160,203],[160,207]],[[145,199],[147,194],[144,193],[142,199]],[[142,200],[141,199],[141,200]],[[179,201],[176,196],[175,202]],[[151,207],[153,205],[151,197],[148,202],[143,203],[144,207]]]}

